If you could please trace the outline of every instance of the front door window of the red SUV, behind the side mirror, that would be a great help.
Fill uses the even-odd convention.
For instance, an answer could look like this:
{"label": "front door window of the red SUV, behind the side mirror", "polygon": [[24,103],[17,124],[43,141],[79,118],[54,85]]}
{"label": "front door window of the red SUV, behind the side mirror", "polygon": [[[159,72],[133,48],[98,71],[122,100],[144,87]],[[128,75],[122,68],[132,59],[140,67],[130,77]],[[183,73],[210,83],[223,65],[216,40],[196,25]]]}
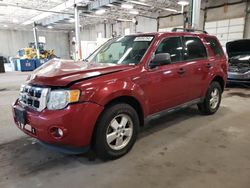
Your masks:
{"label": "front door window of the red SUV, behind the side mirror", "polygon": [[180,37],[171,37],[161,42],[155,54],[169,53],[171,62],[178,62],[183,60],[182,50],[183,47]]}

